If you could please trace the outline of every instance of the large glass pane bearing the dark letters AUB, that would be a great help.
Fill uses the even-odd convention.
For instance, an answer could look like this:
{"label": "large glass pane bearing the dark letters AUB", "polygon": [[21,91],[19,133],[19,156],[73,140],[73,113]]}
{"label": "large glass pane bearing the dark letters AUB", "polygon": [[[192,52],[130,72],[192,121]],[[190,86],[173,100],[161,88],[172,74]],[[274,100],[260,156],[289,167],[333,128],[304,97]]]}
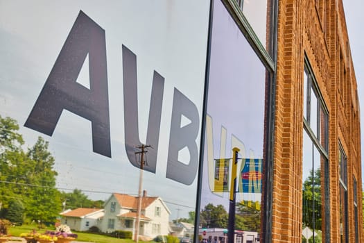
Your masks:
{"label": "large glass pane bearing the dark letters AUB", "polygon": [[103,232],[193,224],[209,4],[0,1],[2,209],[53,225],[79,196]]}

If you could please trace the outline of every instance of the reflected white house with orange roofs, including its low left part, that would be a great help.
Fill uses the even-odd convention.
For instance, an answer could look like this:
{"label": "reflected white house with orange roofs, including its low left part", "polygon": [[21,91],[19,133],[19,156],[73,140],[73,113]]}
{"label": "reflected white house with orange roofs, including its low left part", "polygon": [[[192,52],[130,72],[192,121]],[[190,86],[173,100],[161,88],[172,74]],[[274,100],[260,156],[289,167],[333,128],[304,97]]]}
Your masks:
{"label": "reflected white house with orange roofs, including its low left part", "polygon": [[[60,215],[62,224],[67,224],[76,231],[87,231],[96,226],[102,232],[131,231],[134,235],[137,203],[138,196],[114,193],[107,199],[104,209],[77,208]],[[169,215],[171,211],[159,196],[147,196],[144,191],[141,199],[139,237],[148,240],[157,235],[168,235]]]}

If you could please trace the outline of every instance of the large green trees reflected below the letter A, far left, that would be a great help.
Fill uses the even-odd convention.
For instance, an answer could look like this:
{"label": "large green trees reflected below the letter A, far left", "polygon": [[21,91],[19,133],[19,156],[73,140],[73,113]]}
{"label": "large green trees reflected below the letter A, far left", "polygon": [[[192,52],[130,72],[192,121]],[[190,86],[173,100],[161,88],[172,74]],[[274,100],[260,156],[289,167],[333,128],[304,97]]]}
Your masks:
{"label": "large green trees reflected below the letter A, far left", "polygon": [[61,209],[60,193],[55,189],[55,159],[48,142],[38,137],[25,152],[15,119],[0,116],[0,201],[9,210],[10,201],[24,205],[28,219],[54,221]]}

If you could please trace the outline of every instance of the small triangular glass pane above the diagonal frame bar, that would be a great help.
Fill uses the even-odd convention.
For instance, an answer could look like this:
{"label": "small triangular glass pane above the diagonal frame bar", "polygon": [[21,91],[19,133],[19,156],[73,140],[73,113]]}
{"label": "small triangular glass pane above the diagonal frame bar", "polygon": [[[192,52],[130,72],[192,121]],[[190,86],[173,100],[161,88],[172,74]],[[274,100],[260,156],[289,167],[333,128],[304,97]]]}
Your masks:
{"label": "small triangular glass pane above the diagonal frame bar", "polygon": [[243,14],[248,19],[249,24],[252,26],[254,32],[259,37],[259,40],[266,45],[267,35],[267,0],[241,0],[241,8]]}

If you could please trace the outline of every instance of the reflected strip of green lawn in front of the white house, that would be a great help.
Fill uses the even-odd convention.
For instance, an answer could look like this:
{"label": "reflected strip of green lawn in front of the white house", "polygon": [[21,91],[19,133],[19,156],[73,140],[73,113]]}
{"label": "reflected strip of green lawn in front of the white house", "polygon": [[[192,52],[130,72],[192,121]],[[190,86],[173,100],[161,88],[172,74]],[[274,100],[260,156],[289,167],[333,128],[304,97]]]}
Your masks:
{"label": "reflected strip of green lawn in front of the white house", "polygon": [[[44,233],[45,231],[54,231],[54,228],[45,228],[40,231],[37,230],[37,225],[24,224],[22,226],[14,226],[8,228],[8,234],[12,236],[19,236],[21,233],[30,233],[35,229],[38,233]],[[116,239],[106,235],[96,235],[85,232],[74,232],[78,235],[77,240],[80,242],[98,242],[98,243],[132,243],[130,239]],[[140,242],[140,241],[139,241]],[[143,242],[141,242],[143,243]],[[149,242],[150,243],[150,242]]]}

